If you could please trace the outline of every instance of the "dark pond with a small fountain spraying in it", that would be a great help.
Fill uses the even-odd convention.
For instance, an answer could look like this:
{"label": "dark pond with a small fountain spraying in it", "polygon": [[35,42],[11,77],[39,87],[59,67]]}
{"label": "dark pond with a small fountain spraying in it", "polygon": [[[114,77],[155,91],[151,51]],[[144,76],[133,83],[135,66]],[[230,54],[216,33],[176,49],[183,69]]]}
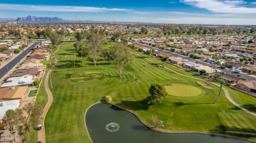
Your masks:
{"label": "dark pond with a small fountain spraying in it", "polygon": [[98,103],[85,115],[85,122],[93,143],[249,143],[235,138],[198,133],[160,133],[152,131],[139,119],[116,106]]}

